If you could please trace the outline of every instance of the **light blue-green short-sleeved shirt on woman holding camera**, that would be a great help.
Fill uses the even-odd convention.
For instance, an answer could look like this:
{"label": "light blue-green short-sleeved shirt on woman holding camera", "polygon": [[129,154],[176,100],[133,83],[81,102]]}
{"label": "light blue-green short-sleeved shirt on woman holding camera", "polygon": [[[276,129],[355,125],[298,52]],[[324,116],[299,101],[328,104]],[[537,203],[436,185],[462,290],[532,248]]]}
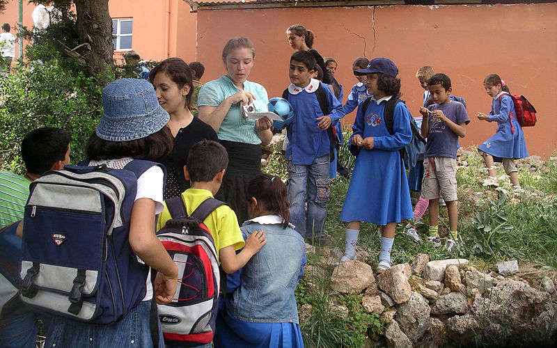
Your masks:
{"label": "light blue-green short-sleeved shirt on woman holding camera", "polygon": [[[253,105],[256,111],[268,111],[267,104],[269,97],[267,90],[260,84],[255,82],[245,81],[244,90],[253,93],[256,100]],[[230,95],[240,92],[233,81],[226,75],[219,79],[209,81],[201,87],[197,98],[198,106],[219,106]],[[261,140],[256,134],[254,129],[256,120],[242,120],[242,113],[240,112],[240,104],[230,106],[230,110],[226,113],[221,127],[217,132],[220,140],[237,141],[240,143],[260,144]]]}

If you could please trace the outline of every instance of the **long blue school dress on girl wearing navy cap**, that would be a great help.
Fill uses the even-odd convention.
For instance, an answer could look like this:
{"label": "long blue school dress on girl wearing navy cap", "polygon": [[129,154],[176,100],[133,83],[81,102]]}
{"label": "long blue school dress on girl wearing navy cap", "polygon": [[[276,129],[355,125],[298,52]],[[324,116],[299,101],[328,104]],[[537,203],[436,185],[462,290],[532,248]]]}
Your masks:
{"label": "long blue school dress on girl wearing navy cap", "polygon": [[373,136],[374,148],[359,148],[340,221],[366,221],[384,226],[414,216],[399,152],[411,140],[412,116],[405,104],[399,102],[395,106],[394,135],[389,134],[383,116],[389,99],[372,100],[367,110],[358,109],[352,126],[354,134],[360,134],[363,139]]}

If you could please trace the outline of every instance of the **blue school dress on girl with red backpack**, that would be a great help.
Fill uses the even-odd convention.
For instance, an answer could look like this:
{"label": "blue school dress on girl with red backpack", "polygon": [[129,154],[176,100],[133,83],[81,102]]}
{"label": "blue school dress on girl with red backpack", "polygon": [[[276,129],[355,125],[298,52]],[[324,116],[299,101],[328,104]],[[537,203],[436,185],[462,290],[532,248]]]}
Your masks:
{"label": "blue school dress on girl with red backpack", "polygon": [[488,116],[489,122],[497,122],[497,130],[494,136],[478,147],[478,150],[492,155],[494,161],[499,162],[503,158],[528,157],[524,133],[515,115],[515,103],[510,95],[506,92],[496,95]]}

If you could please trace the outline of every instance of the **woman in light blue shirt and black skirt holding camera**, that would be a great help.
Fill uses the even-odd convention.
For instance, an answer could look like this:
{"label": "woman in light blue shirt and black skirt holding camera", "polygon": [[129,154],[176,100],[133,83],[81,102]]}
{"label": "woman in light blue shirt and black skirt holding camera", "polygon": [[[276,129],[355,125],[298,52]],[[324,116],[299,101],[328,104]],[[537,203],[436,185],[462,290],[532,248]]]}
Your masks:
{"label": "woman in light blue shirt and black skirt holding camera", "polygon": [[226,75],[209,81],[199,90],[199,118],[213,127],[219,141],[228,151],[228,168],[217,198],[236,212],[240,225],[247,219],[245,188],[261,173],[261,144],[272,138],[269,118],[247,120],[242,117],[242,104],[267,111],[267,91],[260,84],[247,81],[253,68],[256,50],[248,38],[228,40],[222,52]]}

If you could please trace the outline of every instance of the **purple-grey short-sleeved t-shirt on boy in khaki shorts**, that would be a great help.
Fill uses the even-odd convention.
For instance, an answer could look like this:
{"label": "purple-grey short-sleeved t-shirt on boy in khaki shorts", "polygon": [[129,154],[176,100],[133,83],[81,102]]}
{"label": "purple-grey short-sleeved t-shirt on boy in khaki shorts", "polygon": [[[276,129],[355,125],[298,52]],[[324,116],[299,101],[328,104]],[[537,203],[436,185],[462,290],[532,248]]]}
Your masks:
{"label": "purple-grey short-sleeved t-shirt on boy in khaki shorts", "polygon": [[[469,124],[470,118],[464,105],[451,100],[445,104],[433,104],[427,107],[431,111],[441,110],[447,118],[457,125]],[[430,132],[427,135],[424,157],[452,157],[457,158],[458,136],[437,117],[429,116]]]}

